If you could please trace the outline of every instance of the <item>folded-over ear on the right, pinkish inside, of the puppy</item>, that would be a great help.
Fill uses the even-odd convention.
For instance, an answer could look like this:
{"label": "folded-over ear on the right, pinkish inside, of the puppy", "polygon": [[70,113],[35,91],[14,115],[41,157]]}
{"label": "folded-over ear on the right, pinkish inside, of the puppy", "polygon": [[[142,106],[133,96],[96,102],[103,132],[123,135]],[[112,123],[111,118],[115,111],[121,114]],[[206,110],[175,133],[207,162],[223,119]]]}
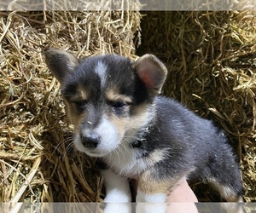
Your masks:
{"label": "folded-over ear on the right, pinkish inside, of the puppy", "polygon": [[151,95],[158,95],[166,81],[166,66],[154,55],[143,55],[134,62],[138,77]]}

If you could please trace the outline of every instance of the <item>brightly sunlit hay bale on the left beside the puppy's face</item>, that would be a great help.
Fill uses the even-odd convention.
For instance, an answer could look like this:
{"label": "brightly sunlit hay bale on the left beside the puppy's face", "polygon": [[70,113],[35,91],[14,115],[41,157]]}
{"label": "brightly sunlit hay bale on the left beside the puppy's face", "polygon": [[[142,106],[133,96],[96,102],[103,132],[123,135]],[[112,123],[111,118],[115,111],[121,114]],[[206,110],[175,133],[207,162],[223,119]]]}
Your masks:
{"label": "brightly sunlit hay bale on the left beside the puppy's face", "polygon": [[47,47],[131,58],[138,12],[0,12],[0,202],[102,201],[95,162],[73,150]]}

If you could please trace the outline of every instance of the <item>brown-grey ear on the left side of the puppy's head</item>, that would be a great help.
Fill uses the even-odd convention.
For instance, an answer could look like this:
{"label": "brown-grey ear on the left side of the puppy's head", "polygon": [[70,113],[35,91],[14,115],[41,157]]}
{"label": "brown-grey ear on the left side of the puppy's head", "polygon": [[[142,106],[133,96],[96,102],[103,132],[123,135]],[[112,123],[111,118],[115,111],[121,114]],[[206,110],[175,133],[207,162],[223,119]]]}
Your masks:
{"label": "brown-grey ear on the left side of the puppy's head", "polygon": [[49,70],[53,72],[60,83],[69,73],[73,72],[74,67],[79,63],[75,56],[61,49],[48,49],[44,52],[44,55]]}

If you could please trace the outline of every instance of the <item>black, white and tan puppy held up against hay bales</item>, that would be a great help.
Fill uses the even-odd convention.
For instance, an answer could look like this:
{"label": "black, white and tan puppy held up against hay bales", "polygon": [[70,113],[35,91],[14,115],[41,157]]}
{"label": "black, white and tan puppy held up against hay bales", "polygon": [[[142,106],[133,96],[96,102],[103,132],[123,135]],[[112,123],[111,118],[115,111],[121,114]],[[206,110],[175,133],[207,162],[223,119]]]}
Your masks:
{"label": "black, white and tan puppy held up against hay bales", "polygon": [[154,55],[131,61],[119,55],[77,59],[45,52],[61,83],[75,147],[100,161],[106,202],[165,202],[177,182],[200,178],[227,201],[242,195],[239,165],[223,131],[177,101],[160,96],[166,66]]}

